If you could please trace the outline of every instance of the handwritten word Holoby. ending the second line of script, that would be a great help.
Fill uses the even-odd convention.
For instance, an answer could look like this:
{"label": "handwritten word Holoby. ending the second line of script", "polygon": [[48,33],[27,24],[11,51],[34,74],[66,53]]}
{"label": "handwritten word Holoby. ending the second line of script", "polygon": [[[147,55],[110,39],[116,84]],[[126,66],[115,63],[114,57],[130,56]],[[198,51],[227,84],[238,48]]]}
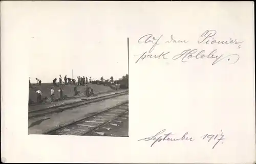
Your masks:
{"label": "handwritten word Holoby. ending the second line of script", "polygon": [[[173,60],[177,60],[179,58],[182,58],[181,59],[182,62],[187,62],[187,59],[190,59],[190,58],[195,58],[195,59],[204,59],[204,58],[215,59],[215,61],[211,65],[215,65],[216,63],[218,63],[218,62],[220,62],[220,61],[222,61],[224,59],[227,59],[228,62],[231,62],[230,64],[234,64],[234,63],[236,63],[239,60],[239,55],[238,54],[231,54],[231,55],[227,55],[227,56],[224,56],[223,54],[222,55],[215,55],[217,50],[212,51],[208,55],[204,54],[205,53],[204,50],[202,50],[202,51],[200,51],[198,53],[197,52],[198,52],[197,49],[194,49],[194,50],[191,50],[191,49],[184,50],[181,54],[175,55],[173,57]],[[233,59],[233,62],[231,61],[231,59]]]}

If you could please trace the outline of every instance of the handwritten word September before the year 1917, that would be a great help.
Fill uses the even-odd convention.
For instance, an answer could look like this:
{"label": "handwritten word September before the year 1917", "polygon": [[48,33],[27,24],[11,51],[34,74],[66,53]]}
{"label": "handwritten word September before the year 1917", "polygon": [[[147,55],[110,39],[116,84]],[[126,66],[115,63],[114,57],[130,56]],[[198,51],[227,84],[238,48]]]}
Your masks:
{"label": "handwritten word September before the year 1917", "polygon": [[164,140],[167,140],[167,141],[179,141],[179,140],[188,140],[188,141],[194,141],[193,137],[189,137],[188,136],[188,132],[186,132],[185,134],[183,134],[182,137],[174,137],[173,133],[172,132],[169,132],[167,134],[163,134],[163,135],[160,135],[162,134],[163,132],[165,132],[165,129],[161,130],[160,132],[158,132],[157,134],[155,134],[154,136],[151,136],[151,137],[145,137],[145,138],[142,138],[142,139],[139,139],[138,141],[140,140],[145,140],[145,141],[150,141],[152,140],[153,143],[151,145],[151,147],[153,145],[155,145],[157,142],[161,142],[161,141],[164,141]]}

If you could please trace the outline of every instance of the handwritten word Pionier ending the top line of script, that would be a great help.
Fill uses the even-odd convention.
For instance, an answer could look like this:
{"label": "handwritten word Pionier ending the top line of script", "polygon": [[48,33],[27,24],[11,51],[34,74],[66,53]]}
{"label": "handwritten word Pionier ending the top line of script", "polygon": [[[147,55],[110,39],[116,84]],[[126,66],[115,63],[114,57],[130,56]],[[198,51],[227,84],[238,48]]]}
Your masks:
{"label": "handwritten word Pionier ending the top line of script", "polygon": [[[204,43],[204,44],[241,44],[243,41],[237,41],[237,39],[233,40],[230,38],[230,40],[216,40],[214,36],[217,34],[216,30],[206,30],[198,39],[198,43]],[[241,45],[238,45],[238,48],[241,48]]]}

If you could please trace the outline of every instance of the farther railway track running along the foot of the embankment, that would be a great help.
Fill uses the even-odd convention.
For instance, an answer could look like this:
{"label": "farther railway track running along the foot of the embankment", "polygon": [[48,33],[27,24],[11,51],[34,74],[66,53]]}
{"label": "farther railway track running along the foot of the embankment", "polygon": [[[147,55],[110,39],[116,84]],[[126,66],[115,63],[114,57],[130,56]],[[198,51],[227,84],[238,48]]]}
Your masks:
{"label": "farther railway track running along the foot of the embankment", "polygon": [[82,106],[82,105],[86,105],[89,103],[94,103],[94,102],[98,102],[98,101],[102,101],[102,100],[106,100],[106,99],[110,99],[110,98],[114,98],[114,97],[118,97],[118,96],[122,96],[122,95],[127,95],[128,91],[125,92],[121,92],[121,93],[116,93],[113,95],[107,95],[107,96],[102,96],[102,97],[97,97],[94,99],[89,99],[89,100],[81,100],[78,102],[73,102],[73,103],[67,103],[67,104],[63,104],[63,105],[58,105],[58,106],[52,106],[49,108],[44,108],[44,109],[35,109],[35,110],[31,110],[29,111],[29,119],[32,118],[37,118],[40,116],[44,116],[50,113],[58,113],[58,112],[62,112],[71,108],[75,108],[78,106]]}

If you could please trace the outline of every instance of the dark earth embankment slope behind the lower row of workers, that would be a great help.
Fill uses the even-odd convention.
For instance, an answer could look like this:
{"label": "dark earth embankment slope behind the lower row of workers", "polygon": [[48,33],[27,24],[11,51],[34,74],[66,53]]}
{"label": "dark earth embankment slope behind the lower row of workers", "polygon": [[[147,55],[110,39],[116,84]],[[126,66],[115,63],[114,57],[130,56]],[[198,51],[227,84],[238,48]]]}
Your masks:
{"label": "dark earth embankment slope behind the lower row of workers", "polygon": [[[32,84],[33,88],[29,89],[29,99],[31,99],[33,102],[36,102],[36,93],[35,91],[40,89],[42,91],[42,98],[47,97],[50,98],[50,88],[53,87],[55,90],[55,96],[54,99],[59,98],[59,87],[54,87],[52,83],[42,83],[41,86],[38,86],[38,84]],[[110,88],[109,86],[103,86],[103,85],[96,85],[96,84],[88,84],[88,86],[93,88],[94,93],[102,93],[107,91],[112,91],[114,89]],[[77,91],[80,91],[79,95],[81,93],[84,93],[84,88],[86,86],[77,86]],[[62,86],[63,95],[67,95],[68,97],[74,96],[74,85],[63,85]]]}

